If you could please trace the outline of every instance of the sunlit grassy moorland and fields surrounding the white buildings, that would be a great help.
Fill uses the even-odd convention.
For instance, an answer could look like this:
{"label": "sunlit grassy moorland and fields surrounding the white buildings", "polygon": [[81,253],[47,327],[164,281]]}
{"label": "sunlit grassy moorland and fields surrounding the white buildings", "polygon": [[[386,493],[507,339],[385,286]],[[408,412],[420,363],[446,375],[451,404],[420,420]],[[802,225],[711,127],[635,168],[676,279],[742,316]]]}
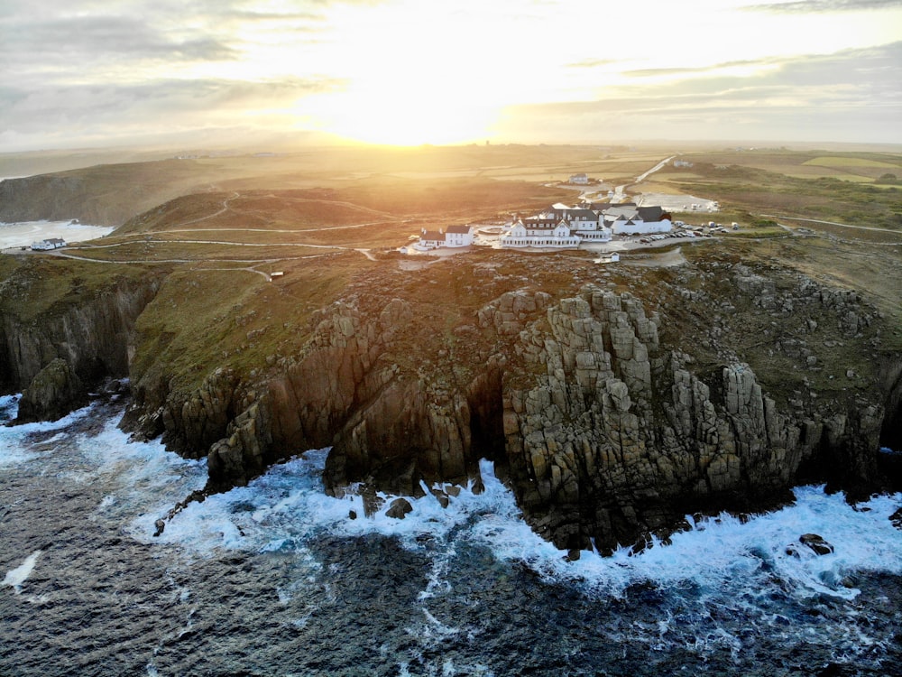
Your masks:
{"label": "sunlit grassy moorland and fields surrounding the white buildings", "polygon": [[[597,276],[592,255],[582,252],[476,250],[457,257],[463,263],[448,264],[391,251],[420,227],[529,213],[578,195],[548,188],[547,181],[510,179],[517,173],[556,167],[634,178],[669,154],[587,146],[345,149],[64,172],[105,209],[126,203],[134,209],[154,196],[204,190],[154,202],[113,235],[68,250],[88,261],[0,257],[0,277],[6,280],[0,311],[36,315],[97,292],[116,276],[168,275],[139,324],[136,373],[176,373],[185,387],[217,365],[249,374],[301,345],[312,313],[345,293],[423,297],[428,312],[437,312],[441,299],[450,304],[442,312],[457,317],[492,293],[516,288],[534,270],[541,270],[551,288],[578,288],[586,271]],[[858,290],[885,315],[884,348],[902,349],[900,332],[893,329],[902,328],[902,236],[807,222],[796,223],[793,235],[759,216],[835,220],[902,233],[902,193],[895,188],[800,175],[879,177],[902,166],[902,156],[733,151],[685,157],[693,167],[667,167],[637,188],[667,187],[717,199],[723,209],[719,220],[735,218],[743,226],[760,221],[758,228],[686,246],[692,260],[727,257],[787,266],[825,284]],[[204,185],[213,179],[215,185]],[[274,271],[284,276],[267,282]],[[653,292],[662,274],[649,268],[641,280],[635,274],[623,278],[622,291]],[[687,323],[685,330],[691,332],[693,325]]]}

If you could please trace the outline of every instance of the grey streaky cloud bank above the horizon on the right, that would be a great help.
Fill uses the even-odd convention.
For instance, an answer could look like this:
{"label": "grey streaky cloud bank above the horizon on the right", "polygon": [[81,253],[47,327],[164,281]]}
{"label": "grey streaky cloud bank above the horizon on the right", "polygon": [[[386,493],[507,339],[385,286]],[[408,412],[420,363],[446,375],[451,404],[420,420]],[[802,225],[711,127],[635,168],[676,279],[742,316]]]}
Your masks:
{"label": "grey streaky cloud bank above the horizon on the right", "polygon": [[[638,71],[670,78],[637,78],[604,88],[594,101],[510,107],[499,126],[548,141],[626,136],[902,143],[902,83],[894,75],[900,60],[902,42],[896,42],[830,55]],[[723,75],[737,64],[754,74]]]}

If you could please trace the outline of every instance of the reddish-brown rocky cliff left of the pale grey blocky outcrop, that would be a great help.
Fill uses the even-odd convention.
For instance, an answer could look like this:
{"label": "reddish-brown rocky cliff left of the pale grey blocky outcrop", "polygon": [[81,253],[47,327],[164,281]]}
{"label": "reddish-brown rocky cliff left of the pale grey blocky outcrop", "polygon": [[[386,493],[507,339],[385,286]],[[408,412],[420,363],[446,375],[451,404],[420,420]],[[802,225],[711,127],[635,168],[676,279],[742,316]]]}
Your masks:
{"label": "reddish-brown rocky cliff left of the pale grey blocky outcrop", "polygon": [[[391,361],[403,349],[410,304],[396,299],[376,310],[337,303],[322,313],[304,352],[284,360],[265,388],[236,398],[234,387],[214,396],[205,385],[180,405],[182,421],[188,405],[202,412],[195,421],[215,422],[210,430],[222,431],[208,452],[211,487],[244,484],[276,459],[330,445],[325,480],[336,492],[366,480],[421,495],[422,481],[478,474],[473,438],[491,436],[481,421],[492,415],[479,392],[491,377],[462,388],[446,368],[450,363],[404,368]],[[232,402],[239,413],[226,426]],[[206,448],[203,436],[187,435],[192,426],[176,415],[165,414],[164,421],[167,431]]]}

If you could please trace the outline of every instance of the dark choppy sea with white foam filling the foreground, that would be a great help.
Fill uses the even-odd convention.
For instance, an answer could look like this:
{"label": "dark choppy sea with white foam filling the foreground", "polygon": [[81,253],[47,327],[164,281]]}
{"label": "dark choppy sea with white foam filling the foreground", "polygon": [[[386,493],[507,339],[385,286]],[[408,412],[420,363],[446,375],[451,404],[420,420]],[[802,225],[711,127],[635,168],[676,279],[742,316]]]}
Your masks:
{"label": "dark choppy sea with white foam filling the foreground", "polygon": [[0,674],[902,673],[899,495],[799,487],[777,512],[566,561],[488,462],[483,492],[395,520],[392,496],[370,516],[327,496],[310,450],[155,536],[206,463],[127,441],[120,414],[0,428]]}

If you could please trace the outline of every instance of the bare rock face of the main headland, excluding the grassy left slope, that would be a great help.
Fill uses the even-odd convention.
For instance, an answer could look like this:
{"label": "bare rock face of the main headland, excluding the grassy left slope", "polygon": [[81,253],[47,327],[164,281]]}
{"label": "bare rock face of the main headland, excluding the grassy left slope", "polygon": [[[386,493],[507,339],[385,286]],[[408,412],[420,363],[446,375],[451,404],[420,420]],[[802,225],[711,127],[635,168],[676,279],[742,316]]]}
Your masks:
{"label": "bare rock face of the main headland, excluding the grassy left slope", "polygon": [[[661,311],[595,283],[503,292],[444,338],[410,301],[336,302],[269,376],[217,370],[157,421],[177,448],[207,453],[213,489],[330,445],[336,494],[363,482],[418,495],[478,478],[487,457],[563,548],[641,545],[687,512],[775,506],[803,481],[879,487],[885,389],[858,362],[824,366],[833,348],[867,349],[873,311],[744,266],[686,282],[660,284],[676,299]],[[690,327],[677,315],[693,308],[708,318]],[[737,352],[736,337],[754,349]],[[769,383],[741,355],[775,365]],[[819,394],[835,380],[825,369],[843,385]]]}

